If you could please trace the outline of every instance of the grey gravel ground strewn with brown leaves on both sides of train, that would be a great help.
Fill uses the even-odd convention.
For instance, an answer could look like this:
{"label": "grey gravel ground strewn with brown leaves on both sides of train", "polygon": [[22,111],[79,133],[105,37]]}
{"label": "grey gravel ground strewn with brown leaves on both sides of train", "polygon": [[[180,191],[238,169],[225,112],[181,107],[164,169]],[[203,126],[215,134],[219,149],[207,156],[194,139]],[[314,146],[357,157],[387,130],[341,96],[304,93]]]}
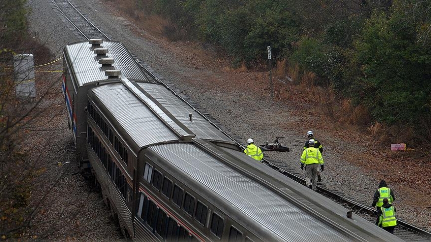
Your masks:
{"label": "grey gravel ground strewn with brown leaves on both sides of train", "polygon": [[[104,2],[83,0],[74,2],[96,26],[114,40],[123,42],[134,55],[151,66],[159,77],[174,83],[176,89],[199,103],[221,124],[229,127],[231,132],[244,140],[252,137],[258,144],[274,141],[275,136],[284,135],[285,139],[281,142],[289,146],[291,151],[268,152],[265,155],[283,160],[289,167],[300,172],[298,162],[305,134],[307,130],[314,130],[325,147],[326,167],[322,177],[327,188],[342,191],[347,197],[359,203],[371,205],[374,191],[385,176],[377,176],[377,173],[363,165],[375,162],[372,159],[374,151],[369,148],[371,146],[369,141],[348,139],[350,135],[345,135],[345,138],[341,139],[339,133],[344,131],[337,129],[336,126],[321,125],[326,120],[320,120],[318,117],[313,119],[312,110],[302,111],[297,106],[281,101],[279,96],[275,102],[271,102],[268,97],[267,80],[262,78],[265,73],[230,71],[217,55],[210,53],[205,56],[190,52],[186,44],[174,43],[168,47],[166,42],[151,36],[145,30],[139,30],[136,25],[118,16],[115,10],[104,6]],[[83,40],[75,31],[71,31],[68,23],[61,20],[50,1],[29,1],[29,5],[32,7],[31,31],[36,33],[42,42],[46,42],[57,57],[61,56],[61,49],[65,44]],[[58,87],[60,92],[60,85]],[[292,90],[278,83],[275,87],[280,93]],[[298,93],[287,95],[300,96]],[[61,99],[60,96],[59,98]],[[307,110],[309,107],[303,108]],[[53,136],[54,145],[49,147],[53,156],[47,157],[49,163],[54,165],[57,163],[56,159],[64,161],[67,154],[63,150],[64,146],[71,142],[65,114],[64,119],[56,125],[59,126],[59,133]],[[354,162],[355,157],[361,159],[368,157],[369,160],[358,166]],[[60,188],[52,191],[55,193],[54,200],[56,197],[59,199],[55,200],[56,205],[50,212],[60,214],[66,212],[64,210],[70,213],[79,212],[80,224],[94,225],[85,231],[79,229],[76,236],[79,240],[119,238],[115,226],[105,216],[107,211],[99,203],[98,193],[94,194],[88,182],[82,180],[80,176],[68,175],[61,178],[59,184]],[[431,206],[428,199],[417,197],[418,195],[413,192],[414,187],[408,184],[398,185],[391,180],[388,184],[396,193],[395,205],[399,210],[398,214],[408,222],[431,229]],[[412,201],[412,197],[423,198],[426,202],[421,204],[421,208],[416,208],[417,203]],[[65,204],[67,206],[62,206]],[[82,208],[83,206],[85,208]],[[54,209],[60,211],[54,212]],[[71,212],[74,209],[76,211]],[[65,235],[62,237],[61,233],[55,236],[56,239],[65,237]]]}

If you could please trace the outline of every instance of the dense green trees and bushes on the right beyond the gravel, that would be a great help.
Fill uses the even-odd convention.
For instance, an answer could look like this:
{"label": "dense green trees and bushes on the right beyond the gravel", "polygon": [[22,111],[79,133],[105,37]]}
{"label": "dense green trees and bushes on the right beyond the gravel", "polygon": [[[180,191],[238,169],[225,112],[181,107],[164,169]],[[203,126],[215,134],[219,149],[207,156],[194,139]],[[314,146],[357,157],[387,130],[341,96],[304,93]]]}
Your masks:
{"label": "dense green trees and bushes on the right beyond the gravel", "polygon": [[314,72],[315,84],[365,107],[373,122],[431,138],[431,0],[137,2],[170,20],[174,40],[220,46],[233,66],[249,67],[265,62],[270,45],[274,62]]}

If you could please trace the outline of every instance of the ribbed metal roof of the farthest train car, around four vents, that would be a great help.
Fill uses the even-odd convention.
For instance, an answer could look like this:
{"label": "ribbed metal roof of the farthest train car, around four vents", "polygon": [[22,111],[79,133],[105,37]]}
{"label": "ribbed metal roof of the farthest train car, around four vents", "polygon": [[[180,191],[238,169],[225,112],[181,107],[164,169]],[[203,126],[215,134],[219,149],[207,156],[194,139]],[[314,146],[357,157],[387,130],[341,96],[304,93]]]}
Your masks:
{"label": "ribbed metal roof of the farthest train car, around four vents", "polygon": [[102,65],[99,63],[98,60],[100,57],[97,57],[94,53],[95,48],[107,48],[108,53],[103,58],[113,58],[114,64],[111,69],[121,70],[121,76],[149,82],[145,73],[140,69],[122,43],[104,41],[101,46],[93,47],[87,41],[67,45],[63,50],[69,65],[68,68],[72,69],[72,73],[75,73],[78,87],[107,79],[105,75],[106,68],[102,68]]}

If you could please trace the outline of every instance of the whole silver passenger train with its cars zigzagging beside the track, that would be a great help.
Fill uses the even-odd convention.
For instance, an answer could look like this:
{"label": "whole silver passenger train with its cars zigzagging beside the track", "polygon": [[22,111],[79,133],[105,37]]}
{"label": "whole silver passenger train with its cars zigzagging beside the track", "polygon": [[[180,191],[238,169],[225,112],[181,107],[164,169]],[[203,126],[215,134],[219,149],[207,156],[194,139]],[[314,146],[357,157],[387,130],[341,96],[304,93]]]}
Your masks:
{"label": "whole silver passenger train with its cars zigzagging beside the track", "polygon": [[80,166],[137,241],[401,241],[242,152],[124,45],[64,48]]}

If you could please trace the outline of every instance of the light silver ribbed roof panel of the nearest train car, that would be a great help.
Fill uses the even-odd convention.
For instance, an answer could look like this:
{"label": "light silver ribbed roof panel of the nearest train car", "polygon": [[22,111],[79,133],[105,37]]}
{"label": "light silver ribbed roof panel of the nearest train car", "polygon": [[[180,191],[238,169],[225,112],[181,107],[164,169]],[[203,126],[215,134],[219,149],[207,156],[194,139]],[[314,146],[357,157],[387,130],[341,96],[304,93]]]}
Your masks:
{"label": "light silver ribbed roof panel of the nearest train car", "polygon": [[[147,152],[155,152],[162,156],[181,170],[185,177],[190,177],[211,190],[211,193],[206,194],[207,196],[216,194],[229,206],[245,214],[280,240],[355,240],[304,212],[303,209],[278,193],[239,173],[191,143],[152,146],[148,148]],[[160,159],[159,162],[161,162]]]}

